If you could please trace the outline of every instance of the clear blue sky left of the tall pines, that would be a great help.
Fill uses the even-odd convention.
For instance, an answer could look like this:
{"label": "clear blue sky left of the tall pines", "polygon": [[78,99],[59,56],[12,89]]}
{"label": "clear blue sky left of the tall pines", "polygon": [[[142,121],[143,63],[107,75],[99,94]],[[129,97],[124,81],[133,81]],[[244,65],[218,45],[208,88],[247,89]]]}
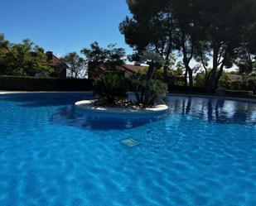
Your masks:
{"label": "clear blue sky left of the tall pines", "polygon": [[56,55],[80,52],[93,41],[132,53],[118,30],[127,15],[125,0],[1,0],[0,33],[16,43],[30,38]]}

